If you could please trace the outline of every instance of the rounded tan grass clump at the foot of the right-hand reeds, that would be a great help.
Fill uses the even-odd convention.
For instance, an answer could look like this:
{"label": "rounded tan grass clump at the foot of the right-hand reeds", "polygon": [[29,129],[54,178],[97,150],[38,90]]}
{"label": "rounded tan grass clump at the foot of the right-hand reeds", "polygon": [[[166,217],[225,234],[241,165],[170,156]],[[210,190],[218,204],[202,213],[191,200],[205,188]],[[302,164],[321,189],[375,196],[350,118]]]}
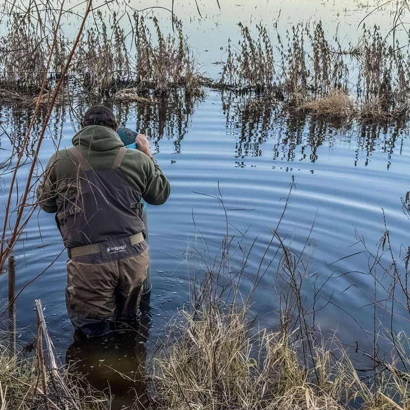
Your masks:
{"label": "rounded tan grass clump at the foot of the right-hand reeds", "polygon": [[324,97],[306,101],[297,107],[298,111],[319,115],[329,119],[354,118],[357,108],[346,92],[333,89]]}

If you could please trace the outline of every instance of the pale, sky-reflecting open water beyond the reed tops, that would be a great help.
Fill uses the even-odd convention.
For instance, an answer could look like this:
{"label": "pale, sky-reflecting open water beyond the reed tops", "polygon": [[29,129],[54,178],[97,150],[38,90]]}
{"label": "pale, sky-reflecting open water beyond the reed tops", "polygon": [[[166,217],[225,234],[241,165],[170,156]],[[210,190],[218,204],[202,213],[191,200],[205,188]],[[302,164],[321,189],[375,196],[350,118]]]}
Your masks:
{"label": "pale, sky-reflecting open water beyond the reed tops", "polygon": [[[98,8],[98,5],[103,3],[103,0],[96,1],[94,7],[107,16],[106,24],[109,26],[107,6]],[[114,6],[112,4],[110,6],[111,11],[117,7],[115,3],[113,4]],[[130,3],[118,2],[118,4],[118,18],[126,33],[130,33],[132,29],[130,20],[124,12],[127,11],[132,15],[133,10],[147,10],[145,12],[148,13],[148,9],[152,7],[152,12],[158,17],[163,32],[172,30],[169,11],[172,7],[171,0],[156,0],[156,2],[132,0]],[[249,26],[251,33],[256,24],[262,23],[268,27],[275,46],[274,23],[276,21],[278,32],[284,38],[286,30],[291,29],[293,25],[320,19],[327,39],[331,40],[338,33],[342,46],[347,47],[349,42],[355,43],[360,36],[362,29],[359,24],[363,18],[367,26],[380,25],[382,33],[387,34],[393,25],[395,12],[394,1],[382,7],[380,7],[383,5],[381,1],[360,0],[219,0],[219,5],[220,10],[217,0],[198,0],[198,8],[195,0],[174,2],[175,15],[182,20],[183,31],[189,37],[188,44],[200,62],[200,71],[207,72],[212,77],[217,77],[220,69],[213,63],[226,58],[224,50],[228,45],[228,39],[231,38],[233,46],[238,42],[238,22]],[[79,5],[69,3],[67,9],[82,15],[85,3]],[[150,20],[146,22],[149,24]],[[4,23],[3,20],[2,24]],[[92,18],[89,19],[89,24],[94,24]],[[74,37],[79,27],[79,20],[71,16],[63,25],[65,35]]]}

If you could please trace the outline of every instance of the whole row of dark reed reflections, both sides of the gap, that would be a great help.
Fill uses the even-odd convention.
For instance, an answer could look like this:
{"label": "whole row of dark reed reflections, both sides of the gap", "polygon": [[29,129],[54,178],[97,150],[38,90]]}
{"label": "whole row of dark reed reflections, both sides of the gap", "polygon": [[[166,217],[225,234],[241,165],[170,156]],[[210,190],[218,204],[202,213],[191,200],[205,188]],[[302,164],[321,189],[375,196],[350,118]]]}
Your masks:
{"label": "whole row of dark reed reflections, both sides of the gap", "polygon": [[[145,132],[153,143],[154,152],[159,152],[159,141],[165,138],[172,139],[174,153],[180,153],[181,143],[189,131],[196,108],[203,103],[204,98],[187,96],[180,90],[175,90],[172,95],[166,97],[148,97],[134,103],[103,103],[112,107],[121,127],[130,127],[131,124],[135,131]],[[333,147],[337,142],[342,142],[350,148],[352,144],[356,146],[352,150],[355,166],[363,157],[364,165],[367,166],[372,153],[378,150],[388,154],[388,169],[396,147],[399,147],[401,154],[403,140],[407,136],[403,124],[340,124],[302,113],[283,112],[263,96],[238,95],[232,91],[222,91],[220,97],[227,134],[235,137],[234,156],[237,167],[245,167],[246,157],[262,156],[262,146],[271,141],[273,160],[308,160],[314,163],[319,159],[320,147]],[[75,111],[67,106],[54,109],[46,138],[55,139],[56,145],[64,123],[71,122],[74,134],[75,129],[79,127],[81,113],[88,105],[85,101],[77,101],[75,107]],[[21,141],[27,132],[32,112],[33,107],[16,105],[4,106],[0,112],[4,119],[0,122],[0,141],[2,137],[10,140],[9,159],[22,148]],[[29,146],[25,148],[26,155],[33,153],[36,136],[39,135],[46,113],[46,109],[43,108],[35,118],[32,138]],[[3,171],[7,168],[8,162],[7,159],[2,159]]]}

